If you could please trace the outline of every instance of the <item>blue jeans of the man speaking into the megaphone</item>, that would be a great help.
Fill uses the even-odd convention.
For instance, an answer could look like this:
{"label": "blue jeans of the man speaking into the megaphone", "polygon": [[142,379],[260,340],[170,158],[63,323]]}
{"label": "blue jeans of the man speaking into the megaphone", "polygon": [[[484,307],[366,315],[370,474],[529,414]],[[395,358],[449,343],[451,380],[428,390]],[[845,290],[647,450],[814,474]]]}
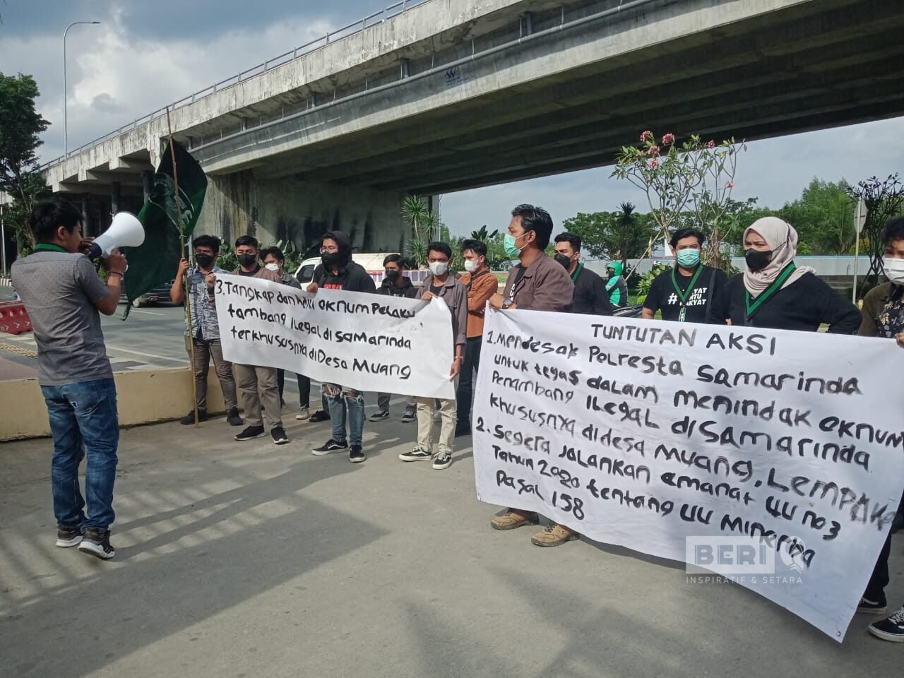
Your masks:
{"label": "blue jeans of the man speaking into the megaphone", "polygon": [[[51,482],[53,515],[62,528],[93,527],[106,531],[113,523],[119,419],[112,379],[42,386],[53,436]],[[88,453],[85,500],[79,488],[79,465]]]}

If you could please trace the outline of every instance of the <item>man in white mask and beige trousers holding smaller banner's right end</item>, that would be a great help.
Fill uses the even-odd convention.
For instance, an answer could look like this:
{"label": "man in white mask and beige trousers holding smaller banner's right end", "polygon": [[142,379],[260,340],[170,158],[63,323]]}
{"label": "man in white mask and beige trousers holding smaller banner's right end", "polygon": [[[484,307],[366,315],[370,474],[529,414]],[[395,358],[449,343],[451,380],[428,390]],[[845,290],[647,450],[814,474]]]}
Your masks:
{"label": "man in white mask and beige trousers holding smaller banner's right end", "polygon": [[[455,358],[449,369],[449,379],[457,379],[464,360],[467,327],[467,289],[455,276],[450,274],[449,261],[452,248],[446,242],[431,242],[427,246],[429,278],[424,280],[424,290],[420,298],[429,300],[441,297],[452,314],[452,340],[455,343]],[[402,461],[429,461],[437,469],[452,465],[452,442],[455,439],[456,401],[439,400],[441,427],[437,454],[433,454],[433,398],[416,398],[418,403],[418,445],[410,452],[399,455]]]}

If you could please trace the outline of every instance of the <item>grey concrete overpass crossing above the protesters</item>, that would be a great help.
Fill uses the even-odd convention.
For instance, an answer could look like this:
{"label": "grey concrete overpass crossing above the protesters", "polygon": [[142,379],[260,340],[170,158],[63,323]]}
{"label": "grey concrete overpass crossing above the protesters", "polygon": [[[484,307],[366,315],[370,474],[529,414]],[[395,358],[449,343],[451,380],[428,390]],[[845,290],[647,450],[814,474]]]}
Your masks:
{"label": "grey concrete overpass crossing above the protesters", "polygon": [[[171,119],[211,179],[204,231],[399,249],[405,193],[606,165],[646,128],[752,140],[902,115],[902,28],[889,0],[428,0]],[[138,200],[165,133],[136,124],[48,184]]]}

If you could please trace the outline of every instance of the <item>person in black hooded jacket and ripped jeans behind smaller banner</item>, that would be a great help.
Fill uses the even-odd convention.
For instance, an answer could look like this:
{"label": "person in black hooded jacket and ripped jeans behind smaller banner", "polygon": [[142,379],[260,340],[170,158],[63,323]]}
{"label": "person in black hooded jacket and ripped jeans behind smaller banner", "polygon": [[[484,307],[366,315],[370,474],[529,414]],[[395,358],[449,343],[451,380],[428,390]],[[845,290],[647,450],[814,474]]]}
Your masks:
{"label": "person in black hooded jacket and ripped jeans behind smaller banner", "polygon": [[[323,263],[314,269],[314,281],[307,286],[308,292],[324,289],[344,289],[349,292],[376,292],[367,271],[352,261],[352,241],[343,231],[330,231],[320,242],[320,256]],[[336,383],[323,384],[326,404],[330,409],[333,437],[312,451],[315,455],[328,455],[349,451],[349,461],[363,462],[364,452],[361,442],[364,432],[364,395],[361,391]],[[343,403],[344,400],[344,403]],[[348,406],[349,435],[345,436],[345,407]]]}

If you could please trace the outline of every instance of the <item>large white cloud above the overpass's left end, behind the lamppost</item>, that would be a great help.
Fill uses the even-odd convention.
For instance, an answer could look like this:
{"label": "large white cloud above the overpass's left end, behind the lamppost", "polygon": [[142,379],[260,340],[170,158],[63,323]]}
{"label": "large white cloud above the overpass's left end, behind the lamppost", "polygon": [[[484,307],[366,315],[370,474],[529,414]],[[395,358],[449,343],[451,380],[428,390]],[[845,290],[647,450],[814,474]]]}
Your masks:
{"label": "large white cloud above the overpass's left end, behind the lamppost", "polygon": [[[237,27],[200,42],[167,41],[137,38],[122,11],[99,26],[77,26],[67,40],[69,146],[101,137],[329,28],[325,20],[295,16],[263,29]],[[43,160],[63,150],[61,42],[61,36],[43,34],[0,43],[0,70],[31,73],[42,91],[38,109],[52,122],[43,135]]]}

